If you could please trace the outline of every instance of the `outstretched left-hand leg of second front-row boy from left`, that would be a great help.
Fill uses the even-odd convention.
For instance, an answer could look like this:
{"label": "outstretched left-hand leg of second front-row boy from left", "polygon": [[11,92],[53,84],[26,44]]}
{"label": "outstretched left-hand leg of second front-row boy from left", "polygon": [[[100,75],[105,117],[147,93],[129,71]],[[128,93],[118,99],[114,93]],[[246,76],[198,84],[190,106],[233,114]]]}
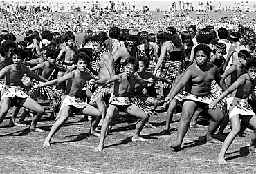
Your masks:
{"label": "outstretched left-hand leg of second front-row boy from left", "polygon": [[59,112],[60,112],[60,117],[58,117],[58,119],[55,120],[55,122],[53,123],[53,126],[51,128],[51,131],[48,133],[46,139],[44,140],[43,145],[46,147],[51,145],[50,142],[51,142],[53,135],[55,135],[55,133],[57,133],[57,131],[59,131],[62,124],[64,124],[68,120],[68,117],[71,114],[71,108],[69,106],[65,106]]}

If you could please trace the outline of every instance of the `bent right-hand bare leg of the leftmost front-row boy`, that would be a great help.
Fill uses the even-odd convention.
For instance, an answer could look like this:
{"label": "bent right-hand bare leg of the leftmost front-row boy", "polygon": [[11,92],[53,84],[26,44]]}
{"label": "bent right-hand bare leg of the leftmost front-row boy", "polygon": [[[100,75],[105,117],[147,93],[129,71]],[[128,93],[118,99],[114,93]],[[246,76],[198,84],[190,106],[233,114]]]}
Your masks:
{"label": "bent right-hand bare leg of the leftmost front-row boy", "polygon": [[36,128],[37,122],[39,122],[39,119],[44,115],[44,108],[37,103],[37,101],[31,99],[30,97],[23,99],[20,103],[21,106],[24,108],[28,108],[29,110],[33,110],[37,115],[35,115],[32,118],[32,122],[30,124],[30,131],[33,132],[45,132],[44,130],[40,128]]}

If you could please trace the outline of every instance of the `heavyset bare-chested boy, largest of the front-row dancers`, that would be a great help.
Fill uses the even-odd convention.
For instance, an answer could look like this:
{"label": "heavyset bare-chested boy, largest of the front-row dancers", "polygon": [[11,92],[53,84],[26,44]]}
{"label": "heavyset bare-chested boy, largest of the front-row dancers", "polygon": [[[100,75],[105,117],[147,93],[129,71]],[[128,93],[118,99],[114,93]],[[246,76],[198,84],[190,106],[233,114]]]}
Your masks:
{"label": "heavyset bare-chested boy, largest of the front-row dancers", "polygon": [[185,133],[188,131],[190,120],[196,109],[202,108],[212,117],[212,122],[208,127],[208,132],[205,136],[207,142],[220,143],[219,140],[213,138],[213,134],[217,131],[217,128],[221,124],[224,117],[221,108],[217,106],[216,110],[208,108],[208,104],[214,100],[213,96],[210,96],[210,86],[215,79],[217,84],[221,86],[223,90],[226,90],[226,84],[224,83],[217,66],[208,62],[210,59],[210,48],[205,44],[199,44],[194,48],[194,55],[196,64],[192,64],[185,72],[181,79],[176,83],[170,94],[170,99],[167,102],[172,101],[174,96],[179,93],[183,88],[187,92],[183,95],[183,107],[181,120],[179,122],[177,138],[174,146],[174,151],[181,150],[181,144]]}

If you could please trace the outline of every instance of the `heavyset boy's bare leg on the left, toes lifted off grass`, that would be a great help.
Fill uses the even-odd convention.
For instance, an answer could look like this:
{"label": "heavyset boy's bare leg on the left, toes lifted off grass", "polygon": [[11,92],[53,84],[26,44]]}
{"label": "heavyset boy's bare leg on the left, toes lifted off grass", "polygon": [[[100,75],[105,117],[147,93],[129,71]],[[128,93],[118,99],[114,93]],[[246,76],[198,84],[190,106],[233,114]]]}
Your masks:
{"label": "heavyset boy's bare leg on the left, toes lifted off grass", "polygon": [[179,122],[178,127],[178,133],[176,137],[176,142],[174,146],[171,146],[174,148],[174,151],[180,151],[181,150],[181,144],[183,142],[183,139],[185,137],[185,134],[188,131],[188,126],[190,124],[190,120],[192,119],[192,116],[197,108],[197,104],[194,101],[185,101],[182,107],[182,115],[181,120]]}

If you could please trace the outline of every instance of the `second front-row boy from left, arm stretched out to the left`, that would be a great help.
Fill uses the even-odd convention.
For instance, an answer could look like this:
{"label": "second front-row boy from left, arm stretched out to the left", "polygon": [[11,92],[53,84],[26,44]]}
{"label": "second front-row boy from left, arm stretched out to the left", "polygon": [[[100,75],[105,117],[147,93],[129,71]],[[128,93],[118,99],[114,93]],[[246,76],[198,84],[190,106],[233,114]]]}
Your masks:
{"label": "second front-row boy from left, arm stretched out to the left", "polygon": [[[42,88],[44,86],[60,84],[66,80],[72,81],[70,91],[68,95],[62,101],[62,105],[60,106],[60,113],[58,114],[51,131],[48,136],[44,140],[44,146],[50,146],[51,138],[57,131],[60,129],[60,126],[64,124],[71,113],[81,114],[81,115],[91,115],[93,118],[91,119],[91,127],[89,131],[89,135],[100,136],[99,133],[96,133],[95,129],[100,121],[102,113],[97,108],[86,104],[85,102],[80,100],[80,94],[82,92],[82,88],[84,84],[93,79],[91,75],[85,72],[87,66],[89,65],[89,57],[84,52],[80,52],[75,56],[75,64],[77,65],[77,69],[67,73],[66,75],[60,77],[59,79],[54,79],[52,81],[48,81],[44,84],[39,84],[37,88]],[[94,79],[93,79],[94,80]]]}

